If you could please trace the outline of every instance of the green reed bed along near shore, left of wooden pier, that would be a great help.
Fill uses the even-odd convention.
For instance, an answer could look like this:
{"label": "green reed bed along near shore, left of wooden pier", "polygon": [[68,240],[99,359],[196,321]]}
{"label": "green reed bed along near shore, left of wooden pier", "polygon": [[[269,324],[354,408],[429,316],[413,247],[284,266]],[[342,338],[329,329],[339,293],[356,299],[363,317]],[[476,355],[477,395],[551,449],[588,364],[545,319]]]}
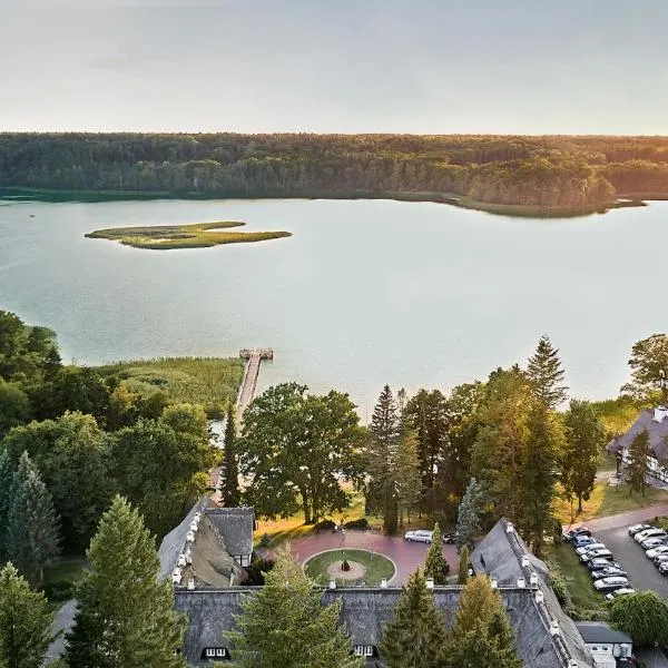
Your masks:
{"label": "green reed bed along near shore, left of wooden pier", "polygon": [[161,391],[175,403],[202,404],[209,418],[220,416],[236,400],[244,361],[222,357],[161,357],[99,366],[105,376],[117,376],[141,396]]}

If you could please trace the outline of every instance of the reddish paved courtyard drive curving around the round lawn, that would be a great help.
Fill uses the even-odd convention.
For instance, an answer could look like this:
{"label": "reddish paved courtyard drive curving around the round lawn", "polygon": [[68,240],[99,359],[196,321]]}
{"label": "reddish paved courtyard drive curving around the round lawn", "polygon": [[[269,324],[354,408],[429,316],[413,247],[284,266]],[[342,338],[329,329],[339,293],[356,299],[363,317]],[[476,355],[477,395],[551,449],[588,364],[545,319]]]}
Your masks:
{"label": "reddish paved courtyard drive curving around the round lawn", "polygon": [[[294,557],[303,563],[313,554],[325,550],[344,550],[346,548],[360,548],[373,550],[392,559],[396,567],[396,573],[392,584],[405,584],[410,576],[418,568],[424,566],[426,550],[425,543],[407,542],[401,537],[383,536],[371,531],[346,531],[342,539],[340,533],[321,533],[320,536],[307,536],[292,542]],[[454,546],[443,546],[443,557],[450,563],[450,572],[456,572],[459,557]]]}

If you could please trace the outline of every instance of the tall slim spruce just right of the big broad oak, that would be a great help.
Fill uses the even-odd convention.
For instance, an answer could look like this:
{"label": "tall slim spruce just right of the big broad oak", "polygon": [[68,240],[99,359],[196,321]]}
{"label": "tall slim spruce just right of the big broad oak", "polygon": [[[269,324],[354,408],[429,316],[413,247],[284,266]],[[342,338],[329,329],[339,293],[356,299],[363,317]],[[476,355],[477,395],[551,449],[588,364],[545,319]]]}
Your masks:
{"label": "tall slim spruce just right of the big broad oak", "polygon": [[389,385],[379,397],[371,425],[367,446],[370,492],[379,501],[383,514],[383,529],[394,533],[397,524],[396,462],[401,440],[401,421],[396,402]]}

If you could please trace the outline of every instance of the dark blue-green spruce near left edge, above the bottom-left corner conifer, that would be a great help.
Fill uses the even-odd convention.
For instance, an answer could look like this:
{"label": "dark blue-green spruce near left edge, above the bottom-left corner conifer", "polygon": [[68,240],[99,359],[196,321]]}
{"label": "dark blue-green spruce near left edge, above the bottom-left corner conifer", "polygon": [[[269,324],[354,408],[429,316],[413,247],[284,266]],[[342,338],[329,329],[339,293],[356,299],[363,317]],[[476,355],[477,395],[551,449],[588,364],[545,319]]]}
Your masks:
{"label": "dark blue-green spruce near left edge, above the bottom-left corner conifer", "polygon": [[12,479],[7,538],[8,558],[30,582],[41,583],[45,564],[58,556],[58,522],[51,494],[27,452]]}

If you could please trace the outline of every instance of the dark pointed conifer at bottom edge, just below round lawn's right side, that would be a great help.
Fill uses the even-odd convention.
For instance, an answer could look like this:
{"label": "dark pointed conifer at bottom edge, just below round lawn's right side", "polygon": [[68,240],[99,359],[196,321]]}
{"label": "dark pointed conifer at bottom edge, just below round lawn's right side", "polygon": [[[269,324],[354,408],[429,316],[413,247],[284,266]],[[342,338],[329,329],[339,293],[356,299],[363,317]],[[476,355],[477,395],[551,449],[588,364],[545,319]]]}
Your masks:
{"label": "dark pointed conifer at bottom edge, just below round lawn's right side", "polygon": [[414,572],[385,626],[380,646],[387,668],[433,668],[445,641],[445,620],[420,571]]}

